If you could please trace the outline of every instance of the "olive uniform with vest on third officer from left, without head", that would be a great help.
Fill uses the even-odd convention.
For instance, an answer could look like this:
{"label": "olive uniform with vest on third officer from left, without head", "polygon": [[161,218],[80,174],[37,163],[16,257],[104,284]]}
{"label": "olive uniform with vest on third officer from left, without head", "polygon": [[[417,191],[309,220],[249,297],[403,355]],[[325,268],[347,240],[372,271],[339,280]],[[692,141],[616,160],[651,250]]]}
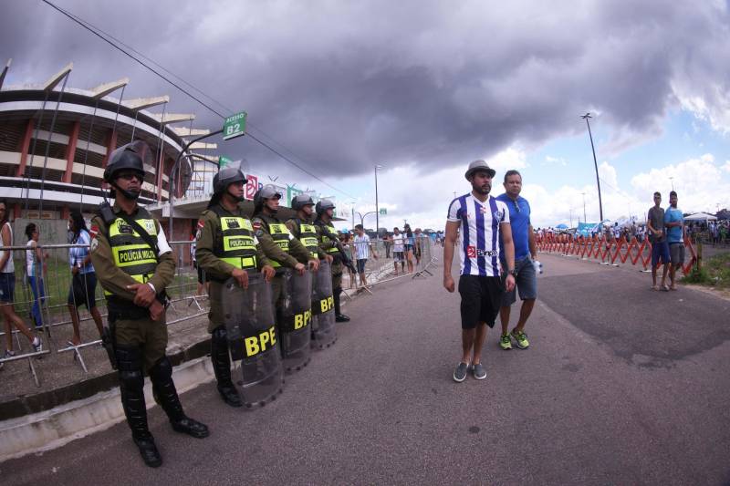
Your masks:
{"label": "olive uniform with vest on third officer from left, without head", "polygon": [[276,307],[281,298],[281,273],[284,267],[294,268],[297,264],[307,264],[315,256],[289,232],[286,224],[275,217],[259,212],[251,221],[254,222],[256,238],[262,242],[264,253],[276,269],[276,276],[271,281],[271,301]]}

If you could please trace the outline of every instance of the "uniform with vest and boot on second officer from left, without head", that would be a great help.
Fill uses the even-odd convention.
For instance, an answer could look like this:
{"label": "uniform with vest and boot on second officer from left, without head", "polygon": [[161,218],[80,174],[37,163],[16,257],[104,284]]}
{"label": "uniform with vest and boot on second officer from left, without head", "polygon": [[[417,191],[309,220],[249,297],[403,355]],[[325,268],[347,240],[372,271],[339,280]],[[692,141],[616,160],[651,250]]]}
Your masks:
{"label": "uniform with vest and boot on second officer from left, without head", "polygon": [[276,246],[276,243],[258,240],[251,221],[240,207],[229,212],[220,203],[214,203],[201,214],[196,240],[195,259],[211,284],[208,332],[211,333],[211,360],[218,391],[228,405],[240,407],[240,398],[231,381],[223,306],[218,296],[222,294],[220,287],[236,268],[255,272],[271,264],[262,246]]}

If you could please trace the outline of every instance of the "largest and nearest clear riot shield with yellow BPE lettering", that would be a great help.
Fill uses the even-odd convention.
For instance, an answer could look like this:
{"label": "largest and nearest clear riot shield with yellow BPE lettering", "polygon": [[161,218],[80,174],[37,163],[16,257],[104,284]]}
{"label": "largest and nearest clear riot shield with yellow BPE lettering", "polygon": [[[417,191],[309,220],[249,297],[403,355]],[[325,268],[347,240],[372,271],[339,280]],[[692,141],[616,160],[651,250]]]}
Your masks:
{"label": "largest and nearest clear riot shield with yellow BPE lettering", "polygon": [[[233,382],[246,407],[264,405],[284,388],[278,336],[271,308],[271,284],[263,274],[249,274],[248,288],[241,288],[234,278],[221,289],[228,349],[234,363]],[[216,289],[216,290],[217,290]]]}

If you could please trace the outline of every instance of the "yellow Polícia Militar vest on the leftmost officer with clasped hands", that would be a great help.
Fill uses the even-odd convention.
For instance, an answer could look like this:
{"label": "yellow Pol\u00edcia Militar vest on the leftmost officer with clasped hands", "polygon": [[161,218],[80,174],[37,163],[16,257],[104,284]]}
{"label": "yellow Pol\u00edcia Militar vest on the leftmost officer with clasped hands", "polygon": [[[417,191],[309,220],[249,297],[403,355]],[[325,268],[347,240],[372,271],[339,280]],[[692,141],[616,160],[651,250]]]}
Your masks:
{"label": "yellow Pol\u00edcia Militar vest on the leftmost officer with clasped hands", "polygon": [[[153,240],[157,239],[157,224],[149,212],[140,209],[134,221],[149,233]],[[114,264],[140,284],[150,280],[157,268],[157,255],[154,248],[147,244],[140,234],[122,218],[116,218],[110,223],[108,234]],[[105,289],[104,295],[113,294]]]}

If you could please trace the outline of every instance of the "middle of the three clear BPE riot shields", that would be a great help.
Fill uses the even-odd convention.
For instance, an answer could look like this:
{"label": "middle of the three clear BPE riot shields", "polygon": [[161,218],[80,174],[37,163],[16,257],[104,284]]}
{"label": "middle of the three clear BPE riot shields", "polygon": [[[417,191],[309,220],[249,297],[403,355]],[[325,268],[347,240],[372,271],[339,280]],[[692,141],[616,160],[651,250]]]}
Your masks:
{"label": "middle of the three clear BPE riot shields", "polygon": [[281,300],[276,323],[281,336],[284,370],[293,373],[307,366],[311,343],[312,274],[287,269],[282,275]]}

